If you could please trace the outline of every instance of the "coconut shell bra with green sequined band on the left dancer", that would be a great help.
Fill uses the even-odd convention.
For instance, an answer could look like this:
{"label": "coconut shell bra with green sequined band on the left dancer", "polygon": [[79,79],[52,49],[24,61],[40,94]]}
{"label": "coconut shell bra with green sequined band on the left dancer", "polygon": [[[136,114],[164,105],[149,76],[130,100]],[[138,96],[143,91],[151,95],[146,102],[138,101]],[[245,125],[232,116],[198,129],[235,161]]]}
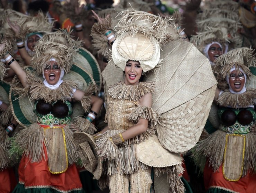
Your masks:
{"label": "coconut shell bra with green sequined band on the left dancer", "polygon": [[35,102],[34,112],[37,122],[43,125],[67,125],[71,121],[73,104],[70,101],[57,100],[47,103],[43,99]]}

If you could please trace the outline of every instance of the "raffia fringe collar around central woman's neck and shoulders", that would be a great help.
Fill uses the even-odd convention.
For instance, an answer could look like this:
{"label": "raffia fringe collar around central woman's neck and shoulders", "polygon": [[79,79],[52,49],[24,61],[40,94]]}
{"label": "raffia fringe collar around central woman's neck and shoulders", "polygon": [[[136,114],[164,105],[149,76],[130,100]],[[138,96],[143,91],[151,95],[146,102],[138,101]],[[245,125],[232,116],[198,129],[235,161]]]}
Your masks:
{"label": "raffia fringe collar around central woman's neck and shoulders", "polygon": [[153,82],[139,82],[137,85],[126,85],[123,81],[120,81],[109,87],[108,94],[113,99],[138,101],[145,94],[153,93],[154,86],[155,83]]}

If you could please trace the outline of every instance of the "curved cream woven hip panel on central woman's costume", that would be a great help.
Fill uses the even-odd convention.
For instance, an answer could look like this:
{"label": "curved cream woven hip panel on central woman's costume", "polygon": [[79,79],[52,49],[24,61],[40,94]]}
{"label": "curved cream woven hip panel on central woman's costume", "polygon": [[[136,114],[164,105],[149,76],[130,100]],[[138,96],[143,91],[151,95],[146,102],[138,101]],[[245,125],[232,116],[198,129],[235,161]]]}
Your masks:
{"label": "curved cream woven hip panel on central woman's costume", "polygon": [[136,151],[139,161],[152,167],[168,167],[182,162],[179,154],[163,148],[156,135],[136,144]]}

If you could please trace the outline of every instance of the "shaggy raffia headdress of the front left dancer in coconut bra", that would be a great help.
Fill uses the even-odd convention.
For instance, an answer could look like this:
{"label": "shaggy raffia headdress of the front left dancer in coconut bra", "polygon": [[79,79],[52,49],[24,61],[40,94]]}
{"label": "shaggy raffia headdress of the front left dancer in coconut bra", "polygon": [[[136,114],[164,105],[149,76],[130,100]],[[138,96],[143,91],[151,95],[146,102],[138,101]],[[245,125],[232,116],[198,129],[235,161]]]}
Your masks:
{"label": "shaggy raffia headdress of the front left dancer in coconut bra", "polygon": [[49,60],[55,58],[58,66],[67,73],[72,67],[78,46],[79,43],[72,40],[66,31],[48,33],[38,41],[34,48],[33,67],[38,74],[42,74]]}

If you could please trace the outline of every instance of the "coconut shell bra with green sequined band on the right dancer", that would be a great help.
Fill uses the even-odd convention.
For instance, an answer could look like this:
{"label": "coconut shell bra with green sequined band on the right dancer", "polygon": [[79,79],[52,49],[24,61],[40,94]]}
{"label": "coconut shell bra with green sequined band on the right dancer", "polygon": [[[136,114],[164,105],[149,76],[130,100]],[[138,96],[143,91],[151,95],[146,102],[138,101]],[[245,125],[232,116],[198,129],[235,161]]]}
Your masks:
{"label": "coconut shell bra with green sequined band on the right dancer", "polygon": [[220,108],[218,116],[221,120],[220,130],[229,134],[247,134],[256,120],[253,108]]}

